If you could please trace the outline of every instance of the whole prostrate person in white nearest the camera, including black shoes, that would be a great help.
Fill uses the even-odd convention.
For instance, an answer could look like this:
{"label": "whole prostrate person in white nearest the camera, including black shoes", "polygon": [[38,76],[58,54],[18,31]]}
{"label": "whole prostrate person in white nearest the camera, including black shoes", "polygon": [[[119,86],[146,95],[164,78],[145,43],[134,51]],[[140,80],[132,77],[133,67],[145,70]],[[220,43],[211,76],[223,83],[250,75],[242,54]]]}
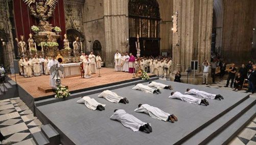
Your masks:
{"label": "whole prostrate person in white nearest the camera, including black shoes", "polygon": [[132,131],[142,131],[146,133],[152,132],[149,123],[144,123],[135,116],[128,114],[123,109],[115,109],[114,113],[110,116],[111,120],[118,120],[122,125],[131,129]]}

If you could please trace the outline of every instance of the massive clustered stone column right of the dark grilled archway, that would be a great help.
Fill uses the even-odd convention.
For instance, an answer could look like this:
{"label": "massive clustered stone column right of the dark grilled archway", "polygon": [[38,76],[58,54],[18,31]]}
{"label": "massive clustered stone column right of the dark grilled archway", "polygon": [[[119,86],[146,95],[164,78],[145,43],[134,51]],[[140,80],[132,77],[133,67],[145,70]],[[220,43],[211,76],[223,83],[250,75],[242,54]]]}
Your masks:
{"label": "massive clustered stone column right of the dark grilled archway", "polygon": [[211,56],[213,0],[174,0],[173,20],[172,68],[185,75],[191,60],[198,60],[199,76],[200,64]]}

